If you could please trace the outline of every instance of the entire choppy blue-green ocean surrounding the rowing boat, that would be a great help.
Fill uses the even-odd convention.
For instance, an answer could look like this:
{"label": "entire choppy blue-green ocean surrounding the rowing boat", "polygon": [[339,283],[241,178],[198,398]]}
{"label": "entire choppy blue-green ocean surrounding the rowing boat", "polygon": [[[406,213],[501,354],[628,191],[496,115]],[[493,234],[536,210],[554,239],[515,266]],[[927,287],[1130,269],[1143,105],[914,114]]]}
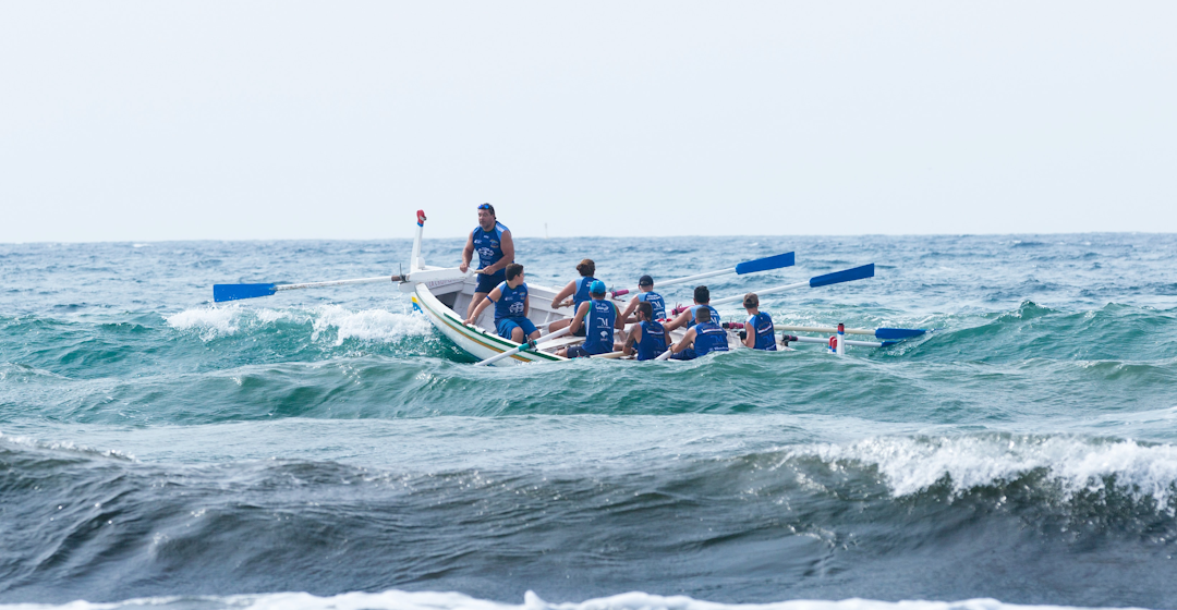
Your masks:
{"label": "entire choppy blue-green ocean surrounding the rowing boat", "polygon": [[1177,608],[1177,236],[518,242],[547,286],[797,253],[717,297],[875,262],[763,309],[937,330],[479,369],[391,284],[211,303],[408,240],[0,244],[0,604]]}

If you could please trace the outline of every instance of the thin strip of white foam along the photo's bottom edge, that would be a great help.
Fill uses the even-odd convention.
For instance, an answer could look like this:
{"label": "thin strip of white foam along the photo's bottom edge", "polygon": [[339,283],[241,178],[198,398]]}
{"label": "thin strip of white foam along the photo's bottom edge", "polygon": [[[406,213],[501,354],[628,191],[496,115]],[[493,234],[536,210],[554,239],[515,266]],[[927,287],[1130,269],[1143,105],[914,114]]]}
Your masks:
{"label": "thin strip of white foam along the photo's bottom edge", "polygon": [[722,604],[692,599],[686,596],[663,597],[644,592],[621,594],[578,603],[547,603],[531,591],[524,596],[523,604],[506,604],[478,599],[463,594],[431,591],[353,592],[331,597],[318,597],[311,594],[152,597],[117,603],[72,602],[61,605],[0,604],[0,609],[21,610],[115,610],[145,606],[245,610],[1062,610],[1069,608],[1004,604],[997,599],[988,598],[960,602],[877,602],[857,598],[840,602],[794,599],[766,604]]}

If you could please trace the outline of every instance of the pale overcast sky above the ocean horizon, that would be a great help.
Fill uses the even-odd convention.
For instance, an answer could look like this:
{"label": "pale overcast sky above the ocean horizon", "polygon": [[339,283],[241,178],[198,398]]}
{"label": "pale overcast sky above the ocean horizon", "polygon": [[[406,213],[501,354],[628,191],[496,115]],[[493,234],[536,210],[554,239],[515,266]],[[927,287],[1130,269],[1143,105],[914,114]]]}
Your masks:
{"label": "pale overcast sky above the ocean horizon", "polygon": [[0,242],[1177,232],[1177,2],[0,2]]}

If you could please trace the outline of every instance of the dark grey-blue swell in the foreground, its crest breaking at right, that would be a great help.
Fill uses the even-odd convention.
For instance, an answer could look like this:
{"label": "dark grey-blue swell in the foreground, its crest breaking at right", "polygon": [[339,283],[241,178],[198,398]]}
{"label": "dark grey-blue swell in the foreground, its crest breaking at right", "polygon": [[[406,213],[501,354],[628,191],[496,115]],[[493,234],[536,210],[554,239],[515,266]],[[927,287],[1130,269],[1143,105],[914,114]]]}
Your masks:
{"label": "dark grey-blue swell in the foreground, its crest breaking at right", "polygon": [[[652,588],[744,602],[980,590],[1019,603],[1175,601],[1171,445],[877,442],[420,470],[181,467],[0,438],[0,599],[388,588],[565,599]],[[1076,453],[1103,461],[1076,469]],[[926,472],[911,484],[905,469]],[[1039,585],[1059,575],[1069,588]]]}

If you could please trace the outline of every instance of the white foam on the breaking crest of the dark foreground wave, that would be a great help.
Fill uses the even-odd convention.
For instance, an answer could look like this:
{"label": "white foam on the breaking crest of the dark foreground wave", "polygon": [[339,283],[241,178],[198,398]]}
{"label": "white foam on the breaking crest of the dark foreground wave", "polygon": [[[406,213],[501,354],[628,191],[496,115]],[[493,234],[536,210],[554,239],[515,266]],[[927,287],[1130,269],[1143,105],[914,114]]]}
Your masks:
{"label": "white foam on the breaking crest of the dark foreground wave", "polygon": [[951,478],[956,491],[1012,481],[1037,469],[1068,494],[1099,491],[1108,477],[1159,505],[1177,494],[1177,447],[1135,441],[1103,442],[1070,436],[876,437],[852,444],[791,450],[825,462],[875,465],[896,496],[917,494]]}

